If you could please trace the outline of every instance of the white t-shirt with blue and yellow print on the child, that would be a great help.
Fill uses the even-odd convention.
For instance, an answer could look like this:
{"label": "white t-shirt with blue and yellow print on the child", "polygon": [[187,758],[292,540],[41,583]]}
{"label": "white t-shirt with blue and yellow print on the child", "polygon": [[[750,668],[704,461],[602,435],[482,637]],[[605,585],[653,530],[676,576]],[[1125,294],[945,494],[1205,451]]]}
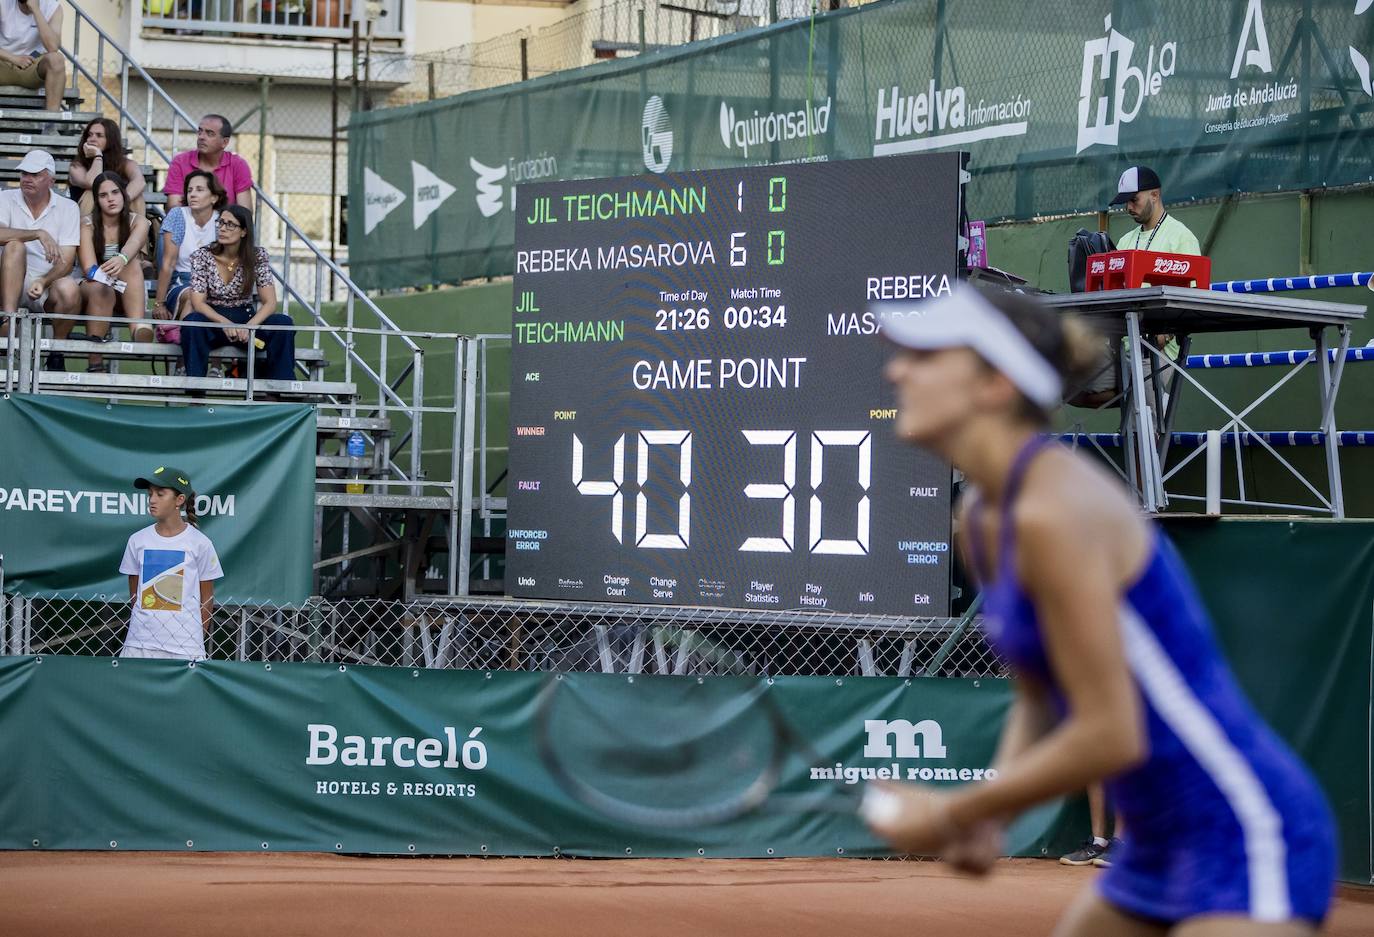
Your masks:
{"label": "white t-shirt with blue and yellow print on the child", "polygon": [[224,576],[210,539],[191,525],[174,537],[146,526],[129,537],[120,572],[139,577],[125,646],[205,659],[201,583]]}

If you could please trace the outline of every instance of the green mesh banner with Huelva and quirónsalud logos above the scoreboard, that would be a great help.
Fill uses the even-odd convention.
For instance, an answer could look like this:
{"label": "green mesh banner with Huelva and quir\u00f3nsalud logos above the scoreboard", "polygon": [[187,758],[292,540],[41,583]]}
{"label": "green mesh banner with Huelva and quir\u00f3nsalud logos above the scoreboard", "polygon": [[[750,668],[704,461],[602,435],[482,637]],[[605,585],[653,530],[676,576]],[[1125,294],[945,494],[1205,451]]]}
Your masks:
{"label": "green mesh banner with Huelva and quir\u00f3nsalud logos above the scoreboard", "polygon": [[967,150],[988,220],[1102,209],[1134,163],[1169,202],[1367,183],[1369,7],[879,0],[356,113],[352,275],[511,273],[515,187],[551,179]]}

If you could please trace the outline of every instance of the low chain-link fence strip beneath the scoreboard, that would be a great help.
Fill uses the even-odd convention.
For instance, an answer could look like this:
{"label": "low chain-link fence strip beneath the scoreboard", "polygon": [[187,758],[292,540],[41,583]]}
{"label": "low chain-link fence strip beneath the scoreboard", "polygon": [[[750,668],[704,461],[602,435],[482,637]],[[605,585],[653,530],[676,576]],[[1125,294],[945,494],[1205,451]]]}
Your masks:
{"label": "low chain-link fence strip beneath the scoreboard", "polygon": [[[0,610],[0,648],[5,654],[114,657],[125,650],[128,600],[5,596]],[[894,618],[506,599],[224,605],[212,614],[206,651],[216,659],[475,670],[900,677],[1006,673],[973,617]]]}

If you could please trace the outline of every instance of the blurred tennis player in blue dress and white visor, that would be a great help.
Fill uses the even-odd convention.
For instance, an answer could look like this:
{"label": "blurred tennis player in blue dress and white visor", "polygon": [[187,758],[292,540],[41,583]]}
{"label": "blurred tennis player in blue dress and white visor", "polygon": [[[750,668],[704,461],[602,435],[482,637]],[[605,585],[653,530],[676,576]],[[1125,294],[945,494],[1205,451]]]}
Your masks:
{"label": "blurred tennis player in blue dress and white visor", "polygon": [[899,436],[976,489],[960,545],[1017,679],[996,779],[879,789],[872,828],[987,871],[1002,824],[1105,782],[1129,831],[1059,937],[1314,933],[1336,864],[1322,791],[1246,702],[1162,532],[1107,471],[1041,436],[1101,341],[971,287],[883,334]]}

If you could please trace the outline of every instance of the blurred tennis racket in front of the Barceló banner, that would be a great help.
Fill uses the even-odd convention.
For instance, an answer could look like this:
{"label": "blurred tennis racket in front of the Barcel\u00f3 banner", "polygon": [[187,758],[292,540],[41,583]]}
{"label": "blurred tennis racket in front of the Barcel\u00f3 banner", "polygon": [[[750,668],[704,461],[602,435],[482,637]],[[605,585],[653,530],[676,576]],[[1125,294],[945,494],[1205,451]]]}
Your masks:
{"label": "blurred tennis racket in front of the Barcel\u00f3 banner", "polygon": [[647,679],[642,705],[617,712],[580,683],[545,681],[534,741],[556,783],[603,816],[662,830],[756,811],[867,811],[860,784],[827,780],[808,791],[793,783],[833,763],[789,723],[764,681]]}

